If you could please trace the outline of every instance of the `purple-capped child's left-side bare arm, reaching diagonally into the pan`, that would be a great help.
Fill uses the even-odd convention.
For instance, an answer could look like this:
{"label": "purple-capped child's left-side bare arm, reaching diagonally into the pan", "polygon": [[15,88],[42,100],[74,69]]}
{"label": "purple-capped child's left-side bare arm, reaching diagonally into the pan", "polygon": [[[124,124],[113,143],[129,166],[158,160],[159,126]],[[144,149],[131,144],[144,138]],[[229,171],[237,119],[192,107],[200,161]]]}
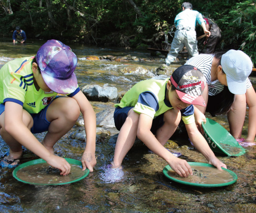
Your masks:
{"label": "purple-capped child's left-side bare arm, reaching diagonally into the pan", "polygon": [[[7,133],[10,134],[17,142],[31,150],[35,155],[46,160],[46,162],[58,169],[60,169],[61,175],[67,175],[70,172],[70,164],[64,159],[58,156],[52,155],[30,132],[24,122],[26,116],[23,116],[24,112],[22,106],[14,102],[6,102],[4,110],[4,125]],[[11,138],[6,138],[11,140]]]}

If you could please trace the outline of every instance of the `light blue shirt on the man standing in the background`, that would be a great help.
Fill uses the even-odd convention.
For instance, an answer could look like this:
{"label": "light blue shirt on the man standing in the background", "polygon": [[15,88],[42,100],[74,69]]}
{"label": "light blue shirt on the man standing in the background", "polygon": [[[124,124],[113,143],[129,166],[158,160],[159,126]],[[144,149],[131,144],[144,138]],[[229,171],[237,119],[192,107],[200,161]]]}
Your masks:
{"label": "light blue shirt on the man standing in the background", "polygon": [[192,27],[195,28],[196,22],[201,25],[202,22],[206,23],[202,14],[196,10],[185,9],[180,12],[174,20],[175,26]]}

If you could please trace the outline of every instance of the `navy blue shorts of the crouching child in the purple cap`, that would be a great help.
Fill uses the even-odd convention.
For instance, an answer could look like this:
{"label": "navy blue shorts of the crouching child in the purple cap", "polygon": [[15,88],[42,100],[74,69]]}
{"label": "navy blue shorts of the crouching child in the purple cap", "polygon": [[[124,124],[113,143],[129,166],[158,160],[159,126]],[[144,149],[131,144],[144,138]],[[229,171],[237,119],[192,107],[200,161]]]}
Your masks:
{"label": "navy blue shorts of the crouching child in the purple cap", "polygon": [[[61,97],[61,96],[57,96],[56,98],[59,98],[59,97]],[[31,116],[33,118],[33,126],[31,128],[32,133],[43,133],[45,131],[48,131],[48,128],[50,126],[50,122],[47,121],[47,119],[46,119],[46,111],[47,111],[48,107],[50,106],[50,104],[48,106],[46,106],[45,108],[43,108],[38,113],[31,113]],[[3,111],[4,111],[4,105],[0,104],[0,114]]]}

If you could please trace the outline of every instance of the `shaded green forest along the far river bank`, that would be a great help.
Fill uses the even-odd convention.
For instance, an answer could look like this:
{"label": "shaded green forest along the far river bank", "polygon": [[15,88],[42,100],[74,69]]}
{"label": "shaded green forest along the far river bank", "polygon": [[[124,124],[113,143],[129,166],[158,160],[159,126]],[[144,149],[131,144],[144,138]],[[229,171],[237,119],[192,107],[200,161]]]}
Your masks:
{"label": "shaded green forest along the far river bank", "polygon": [[[0,36],[20,26],[29,39],[168,49],[184,0],[0,0]],[[190,0],[222,29],[219,49],[242,50],[256,65],[255,0]],[[198,27],[200,30],[200,27]]]}

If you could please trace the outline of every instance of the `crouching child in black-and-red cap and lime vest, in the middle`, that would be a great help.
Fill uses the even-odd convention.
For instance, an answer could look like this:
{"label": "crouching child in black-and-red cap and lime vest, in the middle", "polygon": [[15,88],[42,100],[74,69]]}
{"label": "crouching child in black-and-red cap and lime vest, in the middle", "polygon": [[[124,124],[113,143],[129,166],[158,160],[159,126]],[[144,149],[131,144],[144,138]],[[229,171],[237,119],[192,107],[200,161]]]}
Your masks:
{"label": "crouching child in black-and-red cap and lime vest, in the middle", "polygon": [[120,133],[112,168],[121,167],[137,136],[180,176],[192,175],[188,162],[174,157],[163,146],[175,132],[181,118],[192,143],[208,162],[218,169],[226,168],[215,157],[195,125],[192,104],[205,105],[201,96],[205,86],[203,74],[191,65],[177,68],[168,79],[143,80],[135,84],[124,95],[120,104],[115,105],[115,126]]}

